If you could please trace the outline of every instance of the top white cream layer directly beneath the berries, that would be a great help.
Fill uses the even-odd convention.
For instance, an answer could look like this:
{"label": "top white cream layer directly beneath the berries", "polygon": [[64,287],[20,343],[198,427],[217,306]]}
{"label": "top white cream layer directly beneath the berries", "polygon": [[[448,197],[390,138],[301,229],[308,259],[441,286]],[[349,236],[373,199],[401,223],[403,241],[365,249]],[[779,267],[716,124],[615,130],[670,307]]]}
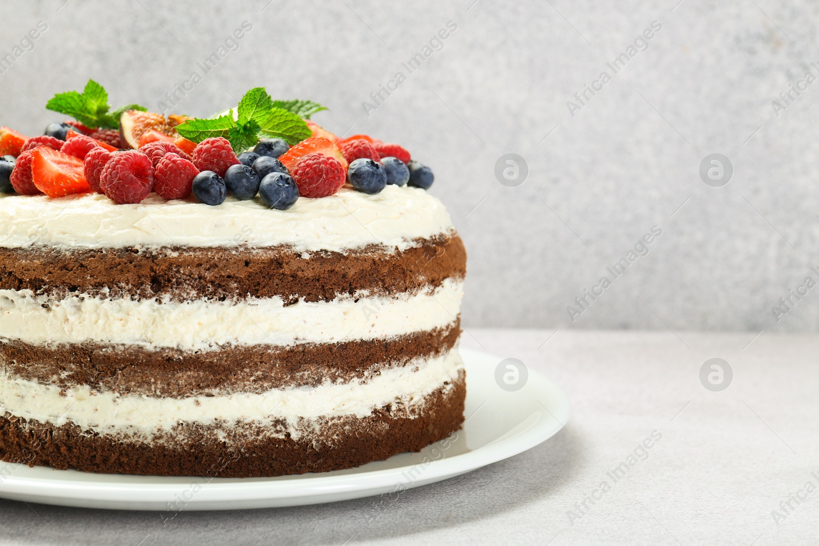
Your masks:
{"label": "top white cream layer directly beneath the berries", "polygon": [[165,201],[151,194],[138,205],[116,205],[102,194],[60,198],[0,196],[0,246],[278,246],[345,250],[369,244],[405,250],[417,238],[452,230],[435,197],[389,185],[376,195],[342,188],[335,196],[301,197],[289,210],[258,198],[218,206]]}

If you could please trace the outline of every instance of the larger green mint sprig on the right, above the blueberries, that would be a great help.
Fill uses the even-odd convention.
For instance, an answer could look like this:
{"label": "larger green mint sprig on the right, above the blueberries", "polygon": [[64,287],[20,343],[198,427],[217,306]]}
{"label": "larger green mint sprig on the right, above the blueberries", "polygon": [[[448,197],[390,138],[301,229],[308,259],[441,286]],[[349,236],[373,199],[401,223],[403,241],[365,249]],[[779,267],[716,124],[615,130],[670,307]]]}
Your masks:
{"label": "larger green mint sprig on the right, above the blueberries", "polygon": [[[211,137],[227,138],[233,151],[237,153],[256,146],[260,138],[283,138],[293,145],[313,134],[302,119],[305,116],[301,114],[308,112],[309,117],[319,110],[326,110],[324,106],[311,101],[287,103],[296,102],[301,104],[300,109],[291,111],[276,106],[283,102],[274,102],[265,88],[252,88],[239,101],[235,116],[231,110],[228,114],[209,120],[188,120],[177,125],[176,130],[193,142]],[[305,106],[307,103],[312,106]]]}

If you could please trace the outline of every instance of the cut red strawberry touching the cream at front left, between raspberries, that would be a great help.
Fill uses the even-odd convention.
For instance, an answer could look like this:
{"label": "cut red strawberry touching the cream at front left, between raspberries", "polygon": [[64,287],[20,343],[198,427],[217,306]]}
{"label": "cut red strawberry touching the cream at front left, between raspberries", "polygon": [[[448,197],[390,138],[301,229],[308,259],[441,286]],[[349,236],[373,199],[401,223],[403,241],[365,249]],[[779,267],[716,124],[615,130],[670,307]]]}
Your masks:
{"label": "cut red strawberry touching the cream at front left, between raspberries", "polygon": [[49,147],[31,151],[31,178],[34,186],[49,197],[64,197],[90,190],[83,172],[83,160]]}

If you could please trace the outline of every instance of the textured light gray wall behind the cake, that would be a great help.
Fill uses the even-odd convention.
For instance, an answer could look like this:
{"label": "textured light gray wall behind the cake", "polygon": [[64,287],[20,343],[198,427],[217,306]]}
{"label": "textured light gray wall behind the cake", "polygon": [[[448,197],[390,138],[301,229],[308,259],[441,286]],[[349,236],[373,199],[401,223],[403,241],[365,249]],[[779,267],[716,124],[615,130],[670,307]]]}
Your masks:
{"label": "textured light gray wall behind the cake", "polygon": [[[48,30],[0,74],[0,121],[36,133],[61,118],[41,111],[48,97],[88,77],[116,105],[155,107],[248,20],[175,110],[208,115],[265,85],[324,103],[315,120],[337,133],[404,144],[432,165],[468,246],[467,325],[817,330],[819,287],[779,322],[771,306],[819,281],[819,83],[779,115],[771,101],[819,77],[819,7],[676,2],[3,2],[0,55],[38,20]],[[455,32],[410,74],[401,63],[447,21]],[[606,63],[653,21],[615,74]],[[572,116],[603,71],[611,81]],[[518,187],[495,177],[510,152],[527,162]],[[715,152],[734,167],[724,187],[699,176]],[[606,267],[653,226],[649,254],[613,278]],[[603,276],[572,323],[567,306]]]}

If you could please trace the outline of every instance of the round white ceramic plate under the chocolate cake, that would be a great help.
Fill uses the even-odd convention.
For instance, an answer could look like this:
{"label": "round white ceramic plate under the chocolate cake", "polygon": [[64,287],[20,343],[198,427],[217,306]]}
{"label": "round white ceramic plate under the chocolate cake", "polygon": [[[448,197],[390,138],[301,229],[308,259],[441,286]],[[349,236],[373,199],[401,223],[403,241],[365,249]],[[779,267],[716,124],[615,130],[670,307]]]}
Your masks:
{"label": "round white ceramic plate under the chocolate cake", "polygon": [[553,382],[529,371],[521,390],[495,382],[502,360],[461,350],[467,371],[464,427],[420,453],[401,453],[348,470],[277,478],[197,478],[91,474],[0,463],[0,497],[84,508],[168,511],[271,508],[330,503],[400,492],[446,480],[512,457],[559,431],[568,399]]}

